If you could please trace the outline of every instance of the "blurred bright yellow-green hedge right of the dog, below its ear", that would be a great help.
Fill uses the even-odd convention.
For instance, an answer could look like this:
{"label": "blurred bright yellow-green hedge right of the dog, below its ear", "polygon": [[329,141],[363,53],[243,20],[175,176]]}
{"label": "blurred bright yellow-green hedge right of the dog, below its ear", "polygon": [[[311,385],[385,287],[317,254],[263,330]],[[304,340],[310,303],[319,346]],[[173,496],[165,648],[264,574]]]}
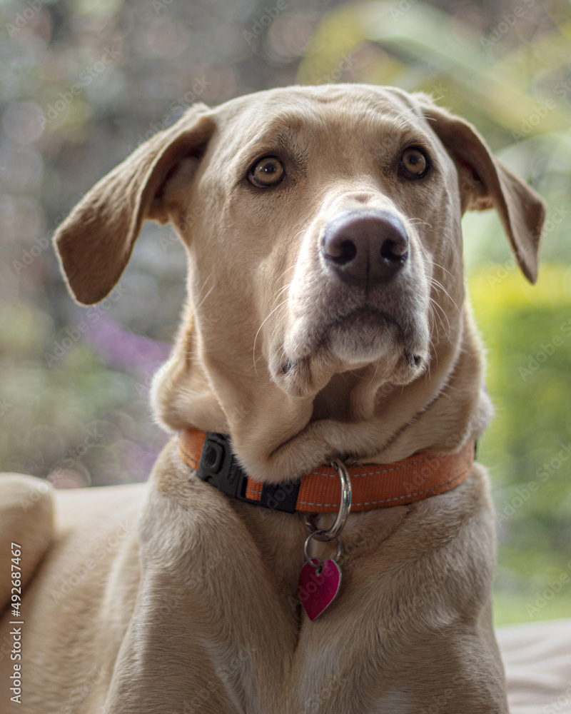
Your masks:
{"label": "blurred bright yellow-green hedge right of the dog, below its ear", "polygon": [[530,286],[512,265],[477,268],[470,295],[495,405],[478,458],[496,508],[496,618],[516,622],[571,615],[571,266],[544,265]]}

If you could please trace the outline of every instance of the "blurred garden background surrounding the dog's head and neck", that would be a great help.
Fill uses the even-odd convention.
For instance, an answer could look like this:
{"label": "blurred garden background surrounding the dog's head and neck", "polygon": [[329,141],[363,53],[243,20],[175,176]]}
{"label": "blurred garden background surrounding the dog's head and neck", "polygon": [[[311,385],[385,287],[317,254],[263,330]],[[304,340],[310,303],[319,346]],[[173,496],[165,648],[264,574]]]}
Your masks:
{"label": "blurred garden background surrounding the dog's head and neck", "polygon": [[550,206],[537,286],[495,213],[465,256],[496,417],[497,623],[571,615],[571,6],[568,0],[0,1],[0,471],[59,488],[143,481],[148,410],[184,298],[169,228],[79,308],[51,235],[81,196],[195,101],[293,83],[395,84],[480,129]]}

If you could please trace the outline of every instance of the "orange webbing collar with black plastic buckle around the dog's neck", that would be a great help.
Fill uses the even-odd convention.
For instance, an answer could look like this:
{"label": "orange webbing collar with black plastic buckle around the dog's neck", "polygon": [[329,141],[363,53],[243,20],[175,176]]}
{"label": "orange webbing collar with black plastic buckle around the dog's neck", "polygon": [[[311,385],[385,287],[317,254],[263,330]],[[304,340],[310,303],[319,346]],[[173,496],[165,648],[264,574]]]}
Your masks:
{"label": "orange webbing collar with black plastic buckle around the dog's neck", "polygon": [[[339,511],[339,480],[330,466],[296,481],[261,483],[242,471],[228,436],[188,428],[181,431],[178,454],[203,481],[241,501],[286,513]],[[474,458],[475,443],[470,441],[458,453],[420,453],[395,463],[351,466],[351,511],[403,506],[451,491],[465,481]]]}

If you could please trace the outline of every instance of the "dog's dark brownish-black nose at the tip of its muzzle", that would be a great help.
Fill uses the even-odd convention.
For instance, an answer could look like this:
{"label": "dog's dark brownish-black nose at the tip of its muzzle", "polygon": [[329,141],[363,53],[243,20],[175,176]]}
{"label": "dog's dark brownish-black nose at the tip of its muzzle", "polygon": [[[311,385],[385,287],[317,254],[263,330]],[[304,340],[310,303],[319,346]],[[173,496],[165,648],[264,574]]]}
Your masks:
{"label": "dog's dark brownish-black nose at the tip of its muzzle", "polygon": [[368,289],[405,265],[408,235],[390,211],[343,211],[325,228],[321,254],[345,282]]}

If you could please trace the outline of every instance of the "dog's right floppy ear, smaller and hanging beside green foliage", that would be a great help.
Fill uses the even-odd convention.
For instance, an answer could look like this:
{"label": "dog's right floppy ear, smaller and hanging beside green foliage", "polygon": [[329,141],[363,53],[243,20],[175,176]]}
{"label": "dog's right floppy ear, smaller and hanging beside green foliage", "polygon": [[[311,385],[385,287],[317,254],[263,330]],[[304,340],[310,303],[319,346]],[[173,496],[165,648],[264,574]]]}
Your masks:
{"label": "dog's right floppy ear, smaller and hanging beside green foliage", "polygon": [[537,253],[545,203],[527,183],[497,161],[471,124],[432,104],[423,104],[431,129],[458,169],[462,212],[495,208],[522,273],[537,279]]}

